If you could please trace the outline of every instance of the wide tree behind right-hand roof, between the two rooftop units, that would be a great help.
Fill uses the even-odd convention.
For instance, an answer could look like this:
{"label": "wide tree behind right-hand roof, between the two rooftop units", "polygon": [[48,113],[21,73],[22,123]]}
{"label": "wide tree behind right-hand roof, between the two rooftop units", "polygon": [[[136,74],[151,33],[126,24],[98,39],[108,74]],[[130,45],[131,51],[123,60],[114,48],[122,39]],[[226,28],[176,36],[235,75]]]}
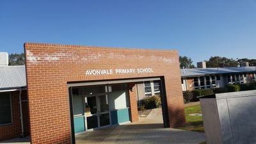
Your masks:
{"label": "wide tree behind right-hand roof, between the two rooftop units", "polygon": [[207,67],[237,67],[239,63],[234,59],[229,59],[220,56],[211,56],[211,58],[206,61]]}

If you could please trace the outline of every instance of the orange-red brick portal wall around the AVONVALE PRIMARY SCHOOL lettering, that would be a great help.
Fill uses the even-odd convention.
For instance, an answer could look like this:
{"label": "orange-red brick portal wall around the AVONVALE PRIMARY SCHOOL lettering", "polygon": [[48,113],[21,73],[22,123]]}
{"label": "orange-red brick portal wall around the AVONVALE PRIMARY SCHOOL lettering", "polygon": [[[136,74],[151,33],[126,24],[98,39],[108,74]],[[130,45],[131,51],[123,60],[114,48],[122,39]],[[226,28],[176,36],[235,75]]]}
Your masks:
{"label": "orange-red brick portal wall around the AVONVALE PRIMARY SCHOOL lettering", "polygon": [[[183,124],[177,51],[24,44],[32,143],[70,143],[68,82],[164,76],[170,126]],[[152,73],[86,76],[86,70],[153,68]]]}

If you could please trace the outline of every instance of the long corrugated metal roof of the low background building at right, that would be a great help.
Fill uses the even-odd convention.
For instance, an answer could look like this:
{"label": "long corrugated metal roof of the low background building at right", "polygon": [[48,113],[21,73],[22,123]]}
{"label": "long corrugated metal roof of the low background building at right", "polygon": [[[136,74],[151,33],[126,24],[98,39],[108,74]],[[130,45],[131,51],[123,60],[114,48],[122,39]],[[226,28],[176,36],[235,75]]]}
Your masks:
{"label": "long corrugated metal roof of the low background building at right", "polygon": [[204,76],[211,74],[232,74],[236,72],[256,72],[256,67],[189,68],[180,70],[181,77]]}

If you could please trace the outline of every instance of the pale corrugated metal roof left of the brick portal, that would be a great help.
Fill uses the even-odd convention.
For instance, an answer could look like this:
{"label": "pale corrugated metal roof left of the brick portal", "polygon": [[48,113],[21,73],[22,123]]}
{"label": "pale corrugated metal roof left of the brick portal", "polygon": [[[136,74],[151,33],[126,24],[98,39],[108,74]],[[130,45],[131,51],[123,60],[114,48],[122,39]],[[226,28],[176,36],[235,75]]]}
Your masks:
{"label": "pale corrugated metal roof left of the brick portal", "polygon": [[0,67],[0,90],[26,86],[25,66]]}

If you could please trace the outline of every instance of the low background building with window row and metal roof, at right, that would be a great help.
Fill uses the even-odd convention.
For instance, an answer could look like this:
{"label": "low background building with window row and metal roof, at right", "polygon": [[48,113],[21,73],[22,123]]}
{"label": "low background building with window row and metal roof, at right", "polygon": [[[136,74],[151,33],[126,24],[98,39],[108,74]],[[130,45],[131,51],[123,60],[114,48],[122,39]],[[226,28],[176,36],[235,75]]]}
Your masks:
{"label": "low background building with window row and metal roof, at right", "polygon": [[256,77],[256,67],[223,67],[181,69],[182,90],[223,88],[228,84],[252,83]]}

